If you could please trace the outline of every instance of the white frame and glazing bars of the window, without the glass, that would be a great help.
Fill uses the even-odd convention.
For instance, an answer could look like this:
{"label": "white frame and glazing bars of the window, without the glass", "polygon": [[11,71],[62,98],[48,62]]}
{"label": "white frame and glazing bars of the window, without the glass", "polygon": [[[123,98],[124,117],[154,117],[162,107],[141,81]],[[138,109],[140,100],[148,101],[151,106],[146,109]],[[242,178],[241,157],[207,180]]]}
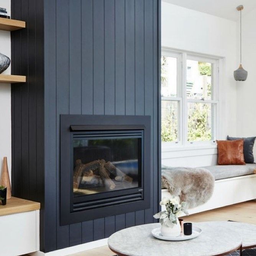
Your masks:
{"label": "white frame and glazing bars of the window, without the glass", "polygon": [[[177,58],[177,97],[161,97],[162,100],[176,101],[179,104],[178,117],[178,140],[170,142],[162,142],[163,148],[182,148],[182,147],[209,147],[215,146],[215,140],[219,136],[219,85],[220,85],[220,58],[214,56],[205,56],[203,54],[188,53],[186,51],[175,51],[162,48],[161,56],[176,57]],[[213,64],[212,71],[212,100],[199,100],[187,98],[187,59],[195,61],[203,61]],[[188,103],[211,103],[213,112],[212,136],[210,141],[187,141],[187,127],[188,127]]]}

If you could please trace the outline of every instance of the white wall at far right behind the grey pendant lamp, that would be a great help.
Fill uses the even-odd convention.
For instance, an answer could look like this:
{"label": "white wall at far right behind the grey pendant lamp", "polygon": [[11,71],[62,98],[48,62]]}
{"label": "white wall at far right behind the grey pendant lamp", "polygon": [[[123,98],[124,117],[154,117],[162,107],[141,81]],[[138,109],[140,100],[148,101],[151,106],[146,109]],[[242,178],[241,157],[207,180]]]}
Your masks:
{"label": "white wall at far right behind the grey pendant lamp", "polygon": [[[246,8],[246,6],[245,6]],[[238,33],[239,33],[238,23]],[[244,82],[237,82],[237,134],[256,136],[256,9],[242,13],[242,64],[248,71]],[[239,36],[238,36],[239,40]],[[239,46],[238,46],[239,53]],[[240,60],[240,56],[238,57]],[[239,64],[239,61],[238,61]],[[237,65],[238,67],[238,65]],[[237,68],[236,67],[236,68]],[[256,157],[254,146],[254,158]]]}

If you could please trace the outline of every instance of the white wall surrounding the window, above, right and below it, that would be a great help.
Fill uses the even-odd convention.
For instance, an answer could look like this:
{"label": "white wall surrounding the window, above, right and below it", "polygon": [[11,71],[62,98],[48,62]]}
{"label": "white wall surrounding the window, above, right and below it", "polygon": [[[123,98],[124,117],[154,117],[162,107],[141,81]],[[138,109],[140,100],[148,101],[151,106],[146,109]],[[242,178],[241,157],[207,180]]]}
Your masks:
{"label": "white wall surrounding the window, above, right and below it", "polygon": [[[163,47],[223,57],[218,139],[236,136],[236,81],[233,79],[238,66],[236,22],[166,2],[162,2],[161,19]],[[171,166],[206,166],[214,164],[216,159],[216,149],[162,152],[162,164]]]}

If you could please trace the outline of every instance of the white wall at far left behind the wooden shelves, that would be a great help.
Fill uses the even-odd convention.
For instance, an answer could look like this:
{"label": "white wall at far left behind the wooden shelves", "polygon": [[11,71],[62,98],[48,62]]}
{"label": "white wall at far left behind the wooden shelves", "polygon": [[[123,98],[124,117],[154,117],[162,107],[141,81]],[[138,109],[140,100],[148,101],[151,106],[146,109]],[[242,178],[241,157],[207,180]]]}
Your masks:
{"label": "white wall at far left behind the wooden shelves", "polygon": [[[0,7],[7,8],[8,15],[11,13],[11,1],[1,0]],[[11,57],[10,32],[0,31],[0,53]],[[3,72],[11,74],[11,67]],[[0,172],[2,171],[3,157],[7,156],[8,168],[11,178],[11,86],[0,84]]]}

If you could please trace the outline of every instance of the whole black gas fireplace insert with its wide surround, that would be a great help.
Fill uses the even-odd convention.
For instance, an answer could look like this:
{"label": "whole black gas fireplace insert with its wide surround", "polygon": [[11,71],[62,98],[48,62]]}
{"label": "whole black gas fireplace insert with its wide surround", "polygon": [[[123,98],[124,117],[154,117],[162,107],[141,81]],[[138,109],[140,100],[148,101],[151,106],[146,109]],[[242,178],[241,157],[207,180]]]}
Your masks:
{"label": "whole black gas fireplace insert with its wide surround", "polygon": [[61,225],[150,207],[150,117],[61,115]]}

